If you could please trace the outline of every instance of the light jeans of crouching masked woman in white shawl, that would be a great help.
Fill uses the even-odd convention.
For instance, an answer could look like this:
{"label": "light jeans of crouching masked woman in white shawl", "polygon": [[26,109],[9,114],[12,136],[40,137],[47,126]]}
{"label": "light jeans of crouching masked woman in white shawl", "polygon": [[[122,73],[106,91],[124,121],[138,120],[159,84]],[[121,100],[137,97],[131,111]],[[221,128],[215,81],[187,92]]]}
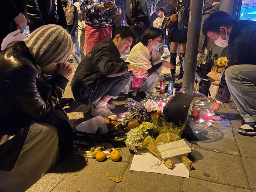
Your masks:
{"label": "light jeans of crouching masked woman in white shawl", "polygon": [[[162,70],[162,68],[160,67],[159,69]],[[158,82],[158,79],[159,79],[159,70],[151,73],[148,78],[145,78],[143,77],[142,81],[143,81],[143,84],[141,87],[138,87],[139,88],[142,88],[145,92],[147,92],[148,94],[153,94],[153,91],[154,91],[154,88],[155,88],[155,84],[156,82]],[[127,85],[125,85],[124,87],[124,94],[127,95],[128,92],[130,91],[130,88],[132,87],[132,78],[130,78],[129,82]],[[137,87],[136,87],[137,88]]]}

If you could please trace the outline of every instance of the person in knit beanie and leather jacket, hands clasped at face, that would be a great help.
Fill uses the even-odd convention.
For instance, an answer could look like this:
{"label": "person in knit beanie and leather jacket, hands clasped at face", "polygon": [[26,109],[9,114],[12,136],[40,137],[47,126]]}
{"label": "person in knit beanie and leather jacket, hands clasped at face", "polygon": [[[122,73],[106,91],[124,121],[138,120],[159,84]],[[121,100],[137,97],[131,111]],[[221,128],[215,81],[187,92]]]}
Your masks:
{"label": "person in knit beanie and leather jacket, hands clasped at face", "polygon": [[67,62],[72,49],[65,29],[45,25],[0,52],[3,191],[26,191],[73,151],[72,128],[59,104],[74,72]]}

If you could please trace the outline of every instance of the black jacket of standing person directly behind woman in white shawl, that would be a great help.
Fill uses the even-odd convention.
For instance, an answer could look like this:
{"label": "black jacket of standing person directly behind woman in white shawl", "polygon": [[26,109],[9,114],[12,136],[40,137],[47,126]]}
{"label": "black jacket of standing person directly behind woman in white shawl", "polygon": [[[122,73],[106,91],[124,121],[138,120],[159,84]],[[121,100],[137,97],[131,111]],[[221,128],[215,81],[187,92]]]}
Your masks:
{"label": "black jacket of standing person directly behind woman in white shawl", "polygon": [[150,27],[150,13],[146,0],[127,0],[125,14],[130,27],[143,30]]}

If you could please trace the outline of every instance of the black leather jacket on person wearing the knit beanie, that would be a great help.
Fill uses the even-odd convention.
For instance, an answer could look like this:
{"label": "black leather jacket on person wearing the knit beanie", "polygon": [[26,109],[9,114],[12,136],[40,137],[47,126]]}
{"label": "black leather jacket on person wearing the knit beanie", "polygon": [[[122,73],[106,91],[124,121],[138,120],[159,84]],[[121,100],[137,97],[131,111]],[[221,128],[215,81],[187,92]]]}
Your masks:
{"label": "black leather jacket on person wearing the knit beanie", "polygon": [[0,52],[0,170],[12,170],[32,120],[50,114],[68,80],[55,74],[46,83],[24,41]]}

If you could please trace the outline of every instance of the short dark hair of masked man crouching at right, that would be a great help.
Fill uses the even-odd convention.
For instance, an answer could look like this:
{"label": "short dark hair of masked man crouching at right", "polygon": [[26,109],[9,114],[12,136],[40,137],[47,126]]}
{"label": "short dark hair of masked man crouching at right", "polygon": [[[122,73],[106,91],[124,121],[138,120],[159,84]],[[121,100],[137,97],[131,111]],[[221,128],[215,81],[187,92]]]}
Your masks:
{"label": "short dark hair of masked man crouching at right", "polygon": [[204,21],[202,28],[203,34],[206,35],[209,31],[219,33],[220,27],[231,27],[234,21],[235,19],[228,13],[217,11]]}

